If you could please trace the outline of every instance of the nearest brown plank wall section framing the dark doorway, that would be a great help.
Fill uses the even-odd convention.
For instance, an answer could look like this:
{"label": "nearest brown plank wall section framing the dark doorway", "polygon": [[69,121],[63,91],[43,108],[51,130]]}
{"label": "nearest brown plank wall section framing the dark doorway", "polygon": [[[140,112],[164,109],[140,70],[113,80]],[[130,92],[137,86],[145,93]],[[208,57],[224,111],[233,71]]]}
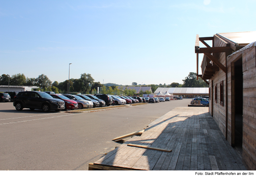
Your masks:
{"label": "nearest brown plank wall section framing the dark doorway", "polygon": [[[232,55],[228,64],[228,141],[231,139],[231,62],[243,63],[243,164],[256,170],[256,47]],[[230,143],[231,144],[231,143]]]}

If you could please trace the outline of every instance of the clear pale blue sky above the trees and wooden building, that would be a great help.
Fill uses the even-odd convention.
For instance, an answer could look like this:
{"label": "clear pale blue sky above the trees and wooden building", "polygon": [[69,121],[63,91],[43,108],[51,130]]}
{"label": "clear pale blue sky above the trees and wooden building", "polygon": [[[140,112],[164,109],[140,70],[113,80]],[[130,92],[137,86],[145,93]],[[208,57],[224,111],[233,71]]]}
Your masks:
{"label": "clear pale blue sky above the trees and wooden building", "polygon": [[255,31],[255,7],[255,0],[0,0],[0,75],[62,82],[72,63],[70,78],[182,84],[196,72],[196,34]]}

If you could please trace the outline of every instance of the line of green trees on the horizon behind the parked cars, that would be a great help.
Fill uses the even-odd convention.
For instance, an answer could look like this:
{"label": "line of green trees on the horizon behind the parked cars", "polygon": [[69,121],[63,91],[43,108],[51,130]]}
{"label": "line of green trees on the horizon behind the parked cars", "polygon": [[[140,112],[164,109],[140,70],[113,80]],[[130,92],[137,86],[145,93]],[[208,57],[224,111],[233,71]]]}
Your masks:
{"label": "line of green trees on the horizon behind the parked cars", "polygon": [[[139,85],[139,86],[148,86],[152,88],[152,91],[155,92],[157,88],[175,88],[175,87],[209,87],[209,85],[199,77],[196,79],[196,73],[190,72],[185,79],[182,80],[183,84],[178,82],[172,82],[169,85],[159,84],[159,85]],[[10,84],[9,84],[10,83]],[[46,75],[41,74],[37,78],[28,78],[24,74],[14,74],[12,76],[2,74],[0,76],[0,85],[8,86],[38,86],[40,91],[53,91],[55,93],[67,93],[68,85],[69,92],[82,92],[82,93],[91,93],[94,94],[97,92],[97,87],[100,87],[100,92],[105,94],[116,94],[116,95],[133,95],[135,90],[125,89],[123,91],[119,90],[115,84],[113,86],[104,86],[100,82],[94,82],[94,78],[91,77],[91,74],[83,73],[79,79],[71,78],[70,80],[65,80],[63,82],[54,81],[52,82]],[[110,84],[110,85],[111,85]],[[138,86],[136,82],[132,82],[133,86]],[[127,85],[128,86],[128,85]],[[134,92],[135,91],[135,92]],[[139,94],[150,94],[150,91],[139,92]]]}

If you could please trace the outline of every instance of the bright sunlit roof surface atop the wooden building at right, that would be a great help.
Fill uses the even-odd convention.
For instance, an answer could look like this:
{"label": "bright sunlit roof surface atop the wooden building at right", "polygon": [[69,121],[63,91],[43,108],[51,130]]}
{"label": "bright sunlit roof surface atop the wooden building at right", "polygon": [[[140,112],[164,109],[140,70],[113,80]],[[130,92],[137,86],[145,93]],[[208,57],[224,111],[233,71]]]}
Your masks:
{"label": "bright sunlit roof surface atop the wooden building at right", "polygon": [[256,31],[217,33],[238,44],[250,44],[256,41]]}

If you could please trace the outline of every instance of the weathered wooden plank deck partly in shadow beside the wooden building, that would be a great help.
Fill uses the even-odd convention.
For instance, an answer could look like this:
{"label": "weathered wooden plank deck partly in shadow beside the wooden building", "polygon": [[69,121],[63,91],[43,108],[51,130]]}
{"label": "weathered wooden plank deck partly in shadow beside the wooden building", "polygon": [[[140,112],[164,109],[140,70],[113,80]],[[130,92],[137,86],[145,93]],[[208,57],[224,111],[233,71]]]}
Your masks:
{"label": "weathered wooden plank deck partly in shadow beside the wooden building", "polygon": [[[208,107],[177,107],[106,154],[89,170],[246,170],[226,141]],[[171,149],[164,152],[127,146]]]}

